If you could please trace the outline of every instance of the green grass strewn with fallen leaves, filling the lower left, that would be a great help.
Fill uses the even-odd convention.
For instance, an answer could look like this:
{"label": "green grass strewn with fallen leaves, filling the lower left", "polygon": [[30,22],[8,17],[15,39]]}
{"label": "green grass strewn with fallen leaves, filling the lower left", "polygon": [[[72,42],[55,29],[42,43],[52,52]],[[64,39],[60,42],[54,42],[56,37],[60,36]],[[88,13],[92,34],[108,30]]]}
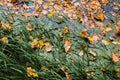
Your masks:
{"label": "green grass strewn with fallen leaves, filling the lower left", "polygon": [[[11,18],[12,16],[12,18]],[[0,39],[0,79],[1,80],[117,80],[115,71],[119,63],[111,59],[111,50],[101,43],[92,45],[79,35],[83,28],[78,20],[67,17],[56,22],[53,17],[1,14]],[[8,20],[10,18],[10,20]],[[3,23],[5,22],[5,23]],[[72,22],[72,23],[71,23]],[[3,29],[3,24],[9,27]],[[73,25],[70,25],[73,24]],[[64,26],[72,26],[69,32],[62,32]],[[62,32],[62,33],[61,33]],[[31,37],[31,38],[30,38]],[[72,40],[71,50],[64,51],[64,37]],[[52,50],[45,51],[45,46],[31,47],[33,39],[49,42]],[[94,49],[96,56],[89,54]],[[84,55],[80,56],[79,52]],[[31,75],[27,68],[30,67]],[[33,71],[33,72],[32,72]],[[33,73],[37,76],[34,77]]]}

